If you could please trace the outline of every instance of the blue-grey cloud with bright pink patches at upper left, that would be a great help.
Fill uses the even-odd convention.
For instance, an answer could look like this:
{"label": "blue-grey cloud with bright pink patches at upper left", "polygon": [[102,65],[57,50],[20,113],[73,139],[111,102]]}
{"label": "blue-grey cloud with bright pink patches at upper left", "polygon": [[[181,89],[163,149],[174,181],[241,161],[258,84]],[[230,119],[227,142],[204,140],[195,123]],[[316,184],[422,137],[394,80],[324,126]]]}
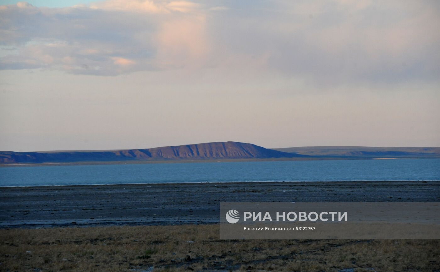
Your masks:
{"label": "blue-grey cloud with bright pink patches at upper left", "polygon": [[115,76],[194,64],[203,52],[205,15],[179,1],[110,0],[90,7],[1,6],[0,69],[55,69]]}

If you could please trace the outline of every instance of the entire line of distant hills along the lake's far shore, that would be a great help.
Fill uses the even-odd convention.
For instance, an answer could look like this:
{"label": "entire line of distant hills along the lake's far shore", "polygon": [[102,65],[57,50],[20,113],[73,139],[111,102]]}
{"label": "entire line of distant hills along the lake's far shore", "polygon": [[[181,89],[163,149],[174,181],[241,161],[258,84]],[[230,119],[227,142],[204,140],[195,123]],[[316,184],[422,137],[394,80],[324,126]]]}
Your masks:
{"label": "entire line of distant hills along the lake's far shore", "polygon": [[350,160],[391,158],[440,158],[440,147],[304,146],[267,149],[242,142],[217,141],[150,149],[40,152],[0,151],[0,165],[193,160]]}

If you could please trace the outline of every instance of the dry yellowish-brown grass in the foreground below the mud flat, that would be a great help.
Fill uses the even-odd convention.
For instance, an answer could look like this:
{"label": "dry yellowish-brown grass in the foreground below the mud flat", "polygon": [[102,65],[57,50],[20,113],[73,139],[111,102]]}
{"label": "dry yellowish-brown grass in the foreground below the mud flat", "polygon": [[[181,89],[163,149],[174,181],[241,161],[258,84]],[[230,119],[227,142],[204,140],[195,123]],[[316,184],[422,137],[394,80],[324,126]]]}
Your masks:
{"label": "dry yellowish-brown grass in the foreground below the mud flat", "polygon": [[439,240],[219,240],[217,225],[1,229],[0,235],[0,271],[440,269]]}

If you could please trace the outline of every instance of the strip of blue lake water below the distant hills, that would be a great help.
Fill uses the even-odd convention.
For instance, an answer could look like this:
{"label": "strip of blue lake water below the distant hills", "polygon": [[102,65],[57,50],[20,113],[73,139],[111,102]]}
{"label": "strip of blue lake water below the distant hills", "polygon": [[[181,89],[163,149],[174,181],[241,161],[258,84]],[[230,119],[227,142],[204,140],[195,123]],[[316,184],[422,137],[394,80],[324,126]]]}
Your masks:
{"label": "strip of blue lake water below the distant hills", "polygon": [[440,180],[440,159],[1,167],[0,186],[231,181]]}

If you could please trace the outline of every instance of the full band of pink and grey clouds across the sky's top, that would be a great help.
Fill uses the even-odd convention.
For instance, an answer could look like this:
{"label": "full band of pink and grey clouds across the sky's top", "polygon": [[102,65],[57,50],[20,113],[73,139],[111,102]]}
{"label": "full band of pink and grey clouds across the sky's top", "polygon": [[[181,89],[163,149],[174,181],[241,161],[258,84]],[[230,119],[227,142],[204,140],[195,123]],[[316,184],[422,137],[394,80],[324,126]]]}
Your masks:
{"label": "full band of pink and grey clouds across the sky's top", "polygon": [[321,84],[438,83],[439,14],[422,1],[19,3],[0,7],[0,45],[17,48],[0,52],[0,68],[114,76],[216,67]]}

